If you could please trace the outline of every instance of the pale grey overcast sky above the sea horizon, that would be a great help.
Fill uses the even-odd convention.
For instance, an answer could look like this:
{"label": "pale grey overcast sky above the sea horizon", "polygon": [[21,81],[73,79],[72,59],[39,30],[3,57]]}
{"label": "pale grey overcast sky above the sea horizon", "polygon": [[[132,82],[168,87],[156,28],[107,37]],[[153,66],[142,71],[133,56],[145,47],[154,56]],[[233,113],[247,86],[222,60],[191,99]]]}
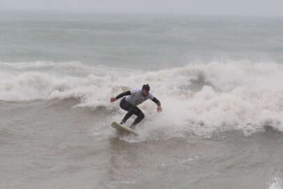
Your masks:
{"label": "pale grey overcast sky above the sea horizon", "polygon": [[1,10],[283,16],[283,0],[0,0]]}

